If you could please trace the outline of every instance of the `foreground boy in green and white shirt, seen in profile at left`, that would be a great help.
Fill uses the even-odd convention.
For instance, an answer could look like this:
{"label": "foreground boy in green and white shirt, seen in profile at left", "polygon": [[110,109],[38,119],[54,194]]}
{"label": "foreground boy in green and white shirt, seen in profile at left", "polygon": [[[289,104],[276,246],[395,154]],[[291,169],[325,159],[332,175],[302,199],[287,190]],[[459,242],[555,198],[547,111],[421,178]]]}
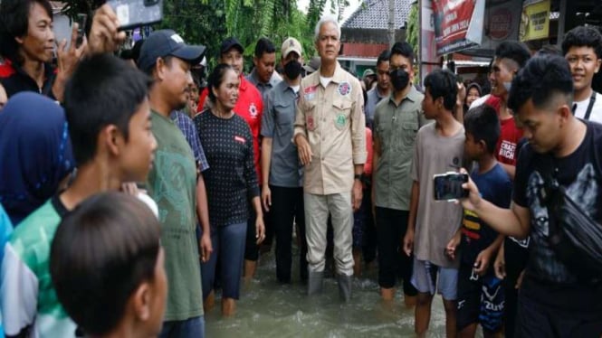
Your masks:
{"label": "foreground boy in green and white shirt, seen in profile at left", "polygon": [[[50,277],[54,232],[92,194],[146,180],[157,147],[149,132],[149,85],[147,76],[110,54],[83,59],[68,81],[64,109],[78,171],[69,188],[33,211],[5,245],[0,299],[7,335],[75,337]],[[32,107],[39,99],[55,105],[35,95]]]}

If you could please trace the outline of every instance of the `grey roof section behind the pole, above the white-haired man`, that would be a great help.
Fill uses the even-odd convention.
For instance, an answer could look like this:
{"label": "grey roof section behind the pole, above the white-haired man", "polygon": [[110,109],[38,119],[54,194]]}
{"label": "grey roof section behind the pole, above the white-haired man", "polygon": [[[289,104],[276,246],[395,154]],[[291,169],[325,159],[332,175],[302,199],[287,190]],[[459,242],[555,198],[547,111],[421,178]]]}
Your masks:
{"label": "grey roof section behind the pole, above the white-haired man", "polygon": [[[395,28],[400,29],[407,21],[413,0],[395,0]],[[343,23],[343,28],[388,28],[388,0],[365,0]]]}

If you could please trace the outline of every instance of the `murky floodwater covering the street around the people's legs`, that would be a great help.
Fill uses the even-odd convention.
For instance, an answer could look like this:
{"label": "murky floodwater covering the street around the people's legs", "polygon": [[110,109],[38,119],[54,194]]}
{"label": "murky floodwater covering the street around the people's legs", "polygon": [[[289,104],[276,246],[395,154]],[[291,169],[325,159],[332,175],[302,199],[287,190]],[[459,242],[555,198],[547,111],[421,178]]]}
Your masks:
{"label": "murky floodwater covering the street around the people's legs", "polygon": [[[295,248],[293,248],[294,250]],[[293,251],[293,262],[298,253]],[[294,264],[294,263],[293,263]],[[255,279],[241,290],[233,318],[215,308],[205,314],[205,336],[214,337],[414,337],[414,310],[406,309],[402,292],[395,304],[380,300],[376,268],[354,278],[349,304],[339,301],[336,279],[324,279],[321,296],[306,296],[307,288],[293,267],[292,285],[276,282],[272,252],[263,254]],[[444,337],[444,309],[440,296],[433,303],[428,337]]]}

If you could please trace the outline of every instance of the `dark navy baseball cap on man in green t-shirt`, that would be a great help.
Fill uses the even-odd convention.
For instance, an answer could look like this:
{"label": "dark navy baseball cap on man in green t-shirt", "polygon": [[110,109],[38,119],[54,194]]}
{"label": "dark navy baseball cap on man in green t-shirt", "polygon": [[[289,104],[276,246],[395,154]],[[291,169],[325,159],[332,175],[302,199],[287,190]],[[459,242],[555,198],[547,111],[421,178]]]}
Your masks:
{"label": "dark navy baseball cap on man in green t-shirt", "polygon": [[157,58],[175,56],[191,64],[199,63],[205,56],[205,46],[189,45],[176,32],[165,29],[151,33],[142,44],[138,67],[140,70],[151,68]]}

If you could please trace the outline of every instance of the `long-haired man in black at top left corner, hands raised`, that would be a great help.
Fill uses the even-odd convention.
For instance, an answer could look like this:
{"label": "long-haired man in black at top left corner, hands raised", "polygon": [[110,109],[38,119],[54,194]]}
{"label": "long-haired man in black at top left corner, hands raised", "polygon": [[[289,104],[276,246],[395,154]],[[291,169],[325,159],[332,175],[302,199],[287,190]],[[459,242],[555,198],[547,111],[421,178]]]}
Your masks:
{"label": "long-haired man in black at top left corner, hands raised", "polygon": [[[62,102],[67,80],[85,54],[113,52],[125,39],[110,5],[102,5],[91,23],[90,41],[77,46],[78,26],[71,42],[56,41],[53,8],[48,0],[4,0],[0,5],[0,82],[8,98],[35,91]],[[56,55],[54,55],[56,53]],[[52,64],[53,56],[57,65]]]}

